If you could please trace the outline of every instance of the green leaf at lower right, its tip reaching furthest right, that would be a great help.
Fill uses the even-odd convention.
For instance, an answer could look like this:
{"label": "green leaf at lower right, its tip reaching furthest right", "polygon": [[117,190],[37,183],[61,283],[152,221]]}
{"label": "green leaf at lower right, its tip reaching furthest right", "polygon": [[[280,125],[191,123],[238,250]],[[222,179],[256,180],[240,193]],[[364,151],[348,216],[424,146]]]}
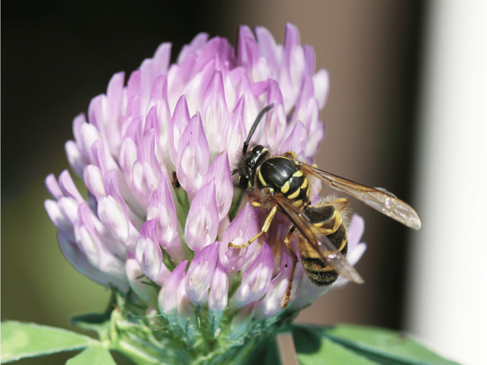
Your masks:
{"label": "green leaf at lower right, its tip reaching furthest right", "polygon": [[312,354],[312,356],[321,353],[320,349],[324,346],[323,343],[328,340],[335,346],[342,347],[343,350],[353,352],[356,356],[368,358],[380,364],[459,365],[439,356],[410,337],[390,329],[356,325],[321,328],[295,326],[293,334],[295,341],[301,341],[301,343],[303,342],[302,338],[307,338],[308,345],[301,346],[298,352]]}

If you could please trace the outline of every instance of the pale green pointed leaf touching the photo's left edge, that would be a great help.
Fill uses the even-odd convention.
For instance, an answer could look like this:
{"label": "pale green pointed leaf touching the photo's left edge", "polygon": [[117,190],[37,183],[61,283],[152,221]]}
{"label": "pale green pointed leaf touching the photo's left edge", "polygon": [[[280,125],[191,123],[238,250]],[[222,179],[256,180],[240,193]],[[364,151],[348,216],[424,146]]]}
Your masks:
{"label": "pale green pointed leaf touching the photo's left edge", "polygon": [[2,363],[98,344],[99,342],[91,337],[66,329],[16,321],[1,323]]}

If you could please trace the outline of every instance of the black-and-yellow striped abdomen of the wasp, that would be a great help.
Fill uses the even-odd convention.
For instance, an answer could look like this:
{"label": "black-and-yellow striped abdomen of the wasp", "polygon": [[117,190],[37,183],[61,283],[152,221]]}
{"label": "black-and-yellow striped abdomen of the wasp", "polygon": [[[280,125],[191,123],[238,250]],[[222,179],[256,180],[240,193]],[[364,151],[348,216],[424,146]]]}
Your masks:
{"label": "black-and-yellow striped abdomen of the wasp", "polygon": [[[347,255],[347,231],[340,212],[333,204],[307,207],[304,214],[320,231],[328,237],[343,256]],[[305,273],[317,286],[330,285],[338,278],[338,273],[324,262],[317,250],[301,234],[298,248]]]}

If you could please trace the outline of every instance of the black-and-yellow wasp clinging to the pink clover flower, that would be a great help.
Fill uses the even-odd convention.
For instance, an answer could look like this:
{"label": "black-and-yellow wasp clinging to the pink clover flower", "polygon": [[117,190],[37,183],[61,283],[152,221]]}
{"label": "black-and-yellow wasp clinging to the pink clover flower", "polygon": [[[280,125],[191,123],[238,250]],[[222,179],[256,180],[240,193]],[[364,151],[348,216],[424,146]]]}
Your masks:
{"label": "black-and-yellow wasp clinging to the pink clover flower", "polygon": [[304,272],[315,285],[330,285],[337,280],[338,275],[343,275],[356,283],[363,283],[360,275],[345,258],[348,242],[348,200],[328,198],[312,205],[309,199],[310,177],[318,178],[332,188],[350,194],[413,229],[421,227],[421,220],[410,205],[397,199],[387,190],[355,183],[320,170],[316,165],[305,164],[298,160],[293,151],[273,156],[269,148],[262,145],[248,149],[250,139],[263,115],[272,108],[273,104],[266,106],[257,116],[244,142],[242,158],[237,168],[232,171],[232,176],[236,176],[235,185],[246,191],[252,200],[251,204],[269,210],[269,214],[255,237],[242,245],[230,242],[228,246],[243,248],[266,234],[278,211],[291,220],[292,226],[284,238],[293,261],[287,291],[281,301],[281,306],[285,308],[289,302],[298,263],[298,256],[291,247],[296,233]]}

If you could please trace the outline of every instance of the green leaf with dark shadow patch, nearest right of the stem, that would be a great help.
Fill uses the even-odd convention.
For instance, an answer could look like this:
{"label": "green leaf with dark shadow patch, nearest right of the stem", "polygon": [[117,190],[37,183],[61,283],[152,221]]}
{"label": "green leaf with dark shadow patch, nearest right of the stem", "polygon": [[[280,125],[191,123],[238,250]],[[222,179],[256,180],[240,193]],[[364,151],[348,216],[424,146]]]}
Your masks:
{"label": "green leaf with dark shadow patch, nearest right of the stem", "polygon": [[374,361],[323,337],[319,328],[293,327],[294,345],[301,365],[377,365]]}

